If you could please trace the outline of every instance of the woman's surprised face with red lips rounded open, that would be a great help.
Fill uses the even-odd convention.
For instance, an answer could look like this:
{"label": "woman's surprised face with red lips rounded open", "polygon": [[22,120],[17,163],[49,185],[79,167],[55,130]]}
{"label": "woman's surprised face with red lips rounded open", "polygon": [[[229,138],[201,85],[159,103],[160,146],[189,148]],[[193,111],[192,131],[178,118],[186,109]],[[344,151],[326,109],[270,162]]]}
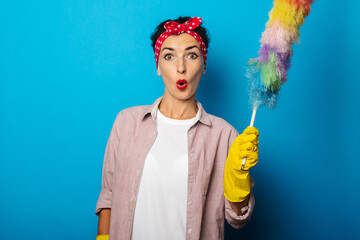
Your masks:
{"label": "woman's surprised face with red lips rounded open", "polygon": [[165,84],[164,95],[179,100],[195,98],[205,69],[200,44],[192,36],[182,33],[168,37],[161,46],[158,62],[158,75]]}

